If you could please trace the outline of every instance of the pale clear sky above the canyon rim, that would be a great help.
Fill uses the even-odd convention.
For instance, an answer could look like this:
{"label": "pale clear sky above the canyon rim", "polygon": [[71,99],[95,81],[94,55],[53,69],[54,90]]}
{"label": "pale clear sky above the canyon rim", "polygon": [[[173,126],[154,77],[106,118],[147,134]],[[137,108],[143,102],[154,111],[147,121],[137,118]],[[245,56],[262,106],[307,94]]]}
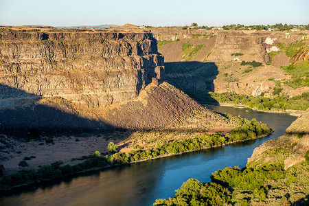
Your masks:
{"label": "pale clear sky above the canyon rim", "polygon": [[0,0],[0,25],[308,24],[309,0]]}

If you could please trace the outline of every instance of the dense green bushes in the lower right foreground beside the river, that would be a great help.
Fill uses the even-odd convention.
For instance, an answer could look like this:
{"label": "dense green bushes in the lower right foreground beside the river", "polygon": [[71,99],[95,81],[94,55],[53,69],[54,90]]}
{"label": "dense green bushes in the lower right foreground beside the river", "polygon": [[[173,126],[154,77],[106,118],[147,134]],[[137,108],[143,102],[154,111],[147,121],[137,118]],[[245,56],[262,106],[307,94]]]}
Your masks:
{"label": "dense green bushes in the lower right foreground beside the river", "polygon": [[225,168],[211,175],[211,183],[189,179],[173,198],[153,205],[308,205],[308,174],[304,161],[288,170],[282,163]]}

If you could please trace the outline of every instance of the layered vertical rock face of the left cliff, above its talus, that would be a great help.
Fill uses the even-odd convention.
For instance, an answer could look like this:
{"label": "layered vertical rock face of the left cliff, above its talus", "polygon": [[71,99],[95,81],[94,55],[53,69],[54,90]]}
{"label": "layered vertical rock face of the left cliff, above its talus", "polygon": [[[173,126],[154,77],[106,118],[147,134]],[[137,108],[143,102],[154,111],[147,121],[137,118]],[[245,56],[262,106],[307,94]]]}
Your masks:
{"label": "layered vertical rock face of the left cliff, above its talus", "polygon": [[0,27],[0,106],[61,97],[89,107],[136,98],[164,78],[148,32]]}

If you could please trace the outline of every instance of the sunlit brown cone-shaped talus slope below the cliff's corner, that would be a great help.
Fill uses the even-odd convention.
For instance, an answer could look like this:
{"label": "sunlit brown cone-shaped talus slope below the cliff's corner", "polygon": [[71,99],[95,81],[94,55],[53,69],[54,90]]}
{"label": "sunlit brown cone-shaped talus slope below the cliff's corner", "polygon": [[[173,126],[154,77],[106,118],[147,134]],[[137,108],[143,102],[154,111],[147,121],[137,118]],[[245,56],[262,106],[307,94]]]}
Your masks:
{"label": "sunlit brown cone-shaped talus slope below the cliff's corner", "polygon": [[104,122],[121,128],[234,126],[227,117],[209,111],[167,82],[149,84],[135,100],[108,106],[102,115]]}

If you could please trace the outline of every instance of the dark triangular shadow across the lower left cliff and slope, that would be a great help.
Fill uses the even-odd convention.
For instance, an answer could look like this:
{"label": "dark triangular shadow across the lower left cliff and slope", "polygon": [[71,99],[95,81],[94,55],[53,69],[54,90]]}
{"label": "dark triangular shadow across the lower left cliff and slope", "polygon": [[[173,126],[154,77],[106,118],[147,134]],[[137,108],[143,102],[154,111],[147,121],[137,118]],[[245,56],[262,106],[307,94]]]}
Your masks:
{"label": "dark triangular shadow across the lower left cliff and slope", "polygon": [[[14,137],[40,135],[78,135],[82,133],[110,133],[115,128],[106,122],[79,117],[63,108],[38,104],[42,97],[0,84],[0,134]],[[20,101],[20,102],[19,102]],[[13,106],[12,106],[13,105]]]}

